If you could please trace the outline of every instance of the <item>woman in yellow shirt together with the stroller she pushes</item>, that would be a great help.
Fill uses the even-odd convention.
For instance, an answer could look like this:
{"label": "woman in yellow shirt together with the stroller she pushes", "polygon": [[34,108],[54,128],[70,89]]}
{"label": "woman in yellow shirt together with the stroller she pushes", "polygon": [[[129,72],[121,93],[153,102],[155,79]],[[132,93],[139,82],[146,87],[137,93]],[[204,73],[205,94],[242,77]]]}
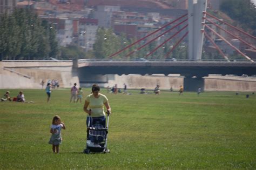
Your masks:
{"label": "woman in yellow shirt together with the stroller she pushes", "polygon": [[[84,111],[88,113],[86,120],[87,140],[84,153],[103,152],[109,153],[107,149],[107,130],[109,126],[110,106],[106,96],[99,93],[99,86],[92,86],[92,94],[86,97]],[[104,105],[107,108],[107,127],[104,113]]]}

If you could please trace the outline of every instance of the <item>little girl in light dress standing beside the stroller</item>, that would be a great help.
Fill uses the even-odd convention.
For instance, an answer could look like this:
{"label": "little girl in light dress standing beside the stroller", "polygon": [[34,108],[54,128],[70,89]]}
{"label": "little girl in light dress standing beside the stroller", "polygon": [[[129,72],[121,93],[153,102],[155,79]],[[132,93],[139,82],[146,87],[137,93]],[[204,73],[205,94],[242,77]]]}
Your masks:
{"label": "little girl in light dress standing beside the stroller", "polygon": [[55,115],[52,119],[52,125],[50,133],[51,138],[49,141],[49,144],[52,145],[52,151],[53,153],[59,153],[59,145],[62,144],[62,135],[60,131],[62,128],[65,130],[65,124],[60,121],[60,117],[58,115]]}

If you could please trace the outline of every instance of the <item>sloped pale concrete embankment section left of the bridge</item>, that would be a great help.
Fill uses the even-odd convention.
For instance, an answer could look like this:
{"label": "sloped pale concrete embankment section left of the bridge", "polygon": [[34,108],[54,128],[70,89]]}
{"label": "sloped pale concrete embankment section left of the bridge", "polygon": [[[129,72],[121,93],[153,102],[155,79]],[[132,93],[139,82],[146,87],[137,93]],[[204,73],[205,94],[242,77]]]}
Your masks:
{"label": "sloped pale concrete embankment section left of the bridge", "polygon": [[0,89],[39,89],[41,81],[58,80],[60,87],[79,85],[72,61],[2,61],[0,62]]}

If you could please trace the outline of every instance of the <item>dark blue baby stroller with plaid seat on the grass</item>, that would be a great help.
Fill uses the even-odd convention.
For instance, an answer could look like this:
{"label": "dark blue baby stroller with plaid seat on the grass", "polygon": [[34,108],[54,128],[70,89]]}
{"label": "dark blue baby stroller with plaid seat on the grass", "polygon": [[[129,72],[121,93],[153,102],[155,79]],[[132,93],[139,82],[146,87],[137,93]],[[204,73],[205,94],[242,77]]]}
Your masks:
{"label": "dark blue baby stroller with plaid seat on the grass", "polygon": [[[84,153],[89,154],[90,152],[102,152],[109,153],[110,150],[107,149],[107,133],[109,130],[109,114],[107,113],[107,125],[100,119],[93,119],[89,117],[89,123],[87,126],[87,140],[86,148]],[[92,123],[90,122],[92,121]]]}

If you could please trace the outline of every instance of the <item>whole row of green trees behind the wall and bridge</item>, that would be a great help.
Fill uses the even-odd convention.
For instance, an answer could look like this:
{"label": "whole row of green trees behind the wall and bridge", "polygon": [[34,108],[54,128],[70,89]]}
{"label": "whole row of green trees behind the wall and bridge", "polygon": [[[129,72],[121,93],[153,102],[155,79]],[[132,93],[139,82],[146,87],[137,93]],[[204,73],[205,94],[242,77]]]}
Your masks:
{"label": "whole row of green trees behind the wall and bridge", "polygon": [[[138,51],[136,49],[150,39],[152,37],[131,46],[113,58],[146,58],[147,54],[154,50],[159,42],[154,41]],[[47,21],[42,21],[31,9],[17,9],[11,15],[0,17],[0,57],[2,59],[109,58],[112,53],[136,41],[136,38],[127,38],[124,33],[117,36],[112,29],[99,28],[93,50],[84,52],[76,44],[59,47],[55,26]],[[176,42],[177,40],[172,40],[164,44],[147,58],[166,58],[166,53],[171,50]],[[132,55],[127,56],[128,53],[134,50],[135,52]],[[179,45],[167,56],[167,58],[176,59],[186,59],[187,57],[186,44]],[[203,58],[220,58],[220,55],[217,53],[203,54]]]}

